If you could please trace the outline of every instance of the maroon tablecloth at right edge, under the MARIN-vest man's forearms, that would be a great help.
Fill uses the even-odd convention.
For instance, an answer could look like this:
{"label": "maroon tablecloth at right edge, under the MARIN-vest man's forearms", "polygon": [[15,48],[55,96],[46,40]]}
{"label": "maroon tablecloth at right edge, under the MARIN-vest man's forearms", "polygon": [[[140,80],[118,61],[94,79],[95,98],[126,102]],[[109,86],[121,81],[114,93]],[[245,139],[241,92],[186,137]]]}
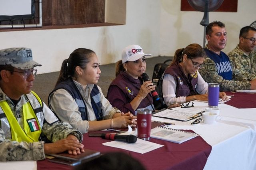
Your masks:
{"label": "maroon tablecloth at right edge, under the MARIN-vest man's forearms", "polygon": [[232,93],[225,92],[227,95],[234,95],[230,101],[225,104],[234,106],[238,109],[256,108],[256,94],[255,93]]}

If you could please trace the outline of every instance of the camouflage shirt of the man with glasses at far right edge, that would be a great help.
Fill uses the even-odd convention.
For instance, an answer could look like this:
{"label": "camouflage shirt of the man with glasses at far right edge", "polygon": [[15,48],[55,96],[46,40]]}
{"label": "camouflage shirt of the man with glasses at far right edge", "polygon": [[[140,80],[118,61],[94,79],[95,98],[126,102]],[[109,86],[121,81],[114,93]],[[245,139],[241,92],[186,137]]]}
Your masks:
{"label": "camouflage shirt of the man with glasses at far right edge", "polygon": [[247,55],[237,45],[235,49],[228,53],[230,62],[233,62],[234,68],[240,70],[240,72],[249,80],[256,78],[256,51],[252,51]]}

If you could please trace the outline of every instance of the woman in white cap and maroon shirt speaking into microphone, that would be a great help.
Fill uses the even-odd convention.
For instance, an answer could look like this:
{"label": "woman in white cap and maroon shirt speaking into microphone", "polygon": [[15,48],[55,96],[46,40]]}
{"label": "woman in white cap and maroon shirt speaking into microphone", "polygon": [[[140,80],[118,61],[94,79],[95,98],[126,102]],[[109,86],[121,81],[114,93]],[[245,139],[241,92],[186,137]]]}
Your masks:
{"label": "woman in white cap and maroon shirt speaking into microphone", "polygon": [[129,45],[122,51],[122,60],[116,63],[116,79],[108,88],[108,100],[113,107],[136,115],[136,109],[154,110],[151,91],[152,81],[144,82],[140,77],[146,71],[146,56],[139,45]]}

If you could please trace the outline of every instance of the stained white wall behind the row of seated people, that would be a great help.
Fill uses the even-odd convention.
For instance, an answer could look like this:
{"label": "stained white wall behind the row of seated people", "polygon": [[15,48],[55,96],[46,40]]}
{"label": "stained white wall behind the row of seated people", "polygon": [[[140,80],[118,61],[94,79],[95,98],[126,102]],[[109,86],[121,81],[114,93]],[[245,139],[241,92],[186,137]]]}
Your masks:
{"label": "stained white wall behind the row of seated people", "polygon": [[[0,32],[0,49],[30,47],[34,60],[41,63],[38,73],[59,71],[62,61],[78,47],[96,52],[100,64],[121,59],[130,44],[141,45],[153,56],[172,56],[190,43],[203,43],[202,12],[181,12],[180,0],[127,0],[126,25],[57,30]],[[238,12],[210,12],[210,22],[226,24],[230,51],[238,43],[242,26],[256,20],[256,1],[238,0]]]}

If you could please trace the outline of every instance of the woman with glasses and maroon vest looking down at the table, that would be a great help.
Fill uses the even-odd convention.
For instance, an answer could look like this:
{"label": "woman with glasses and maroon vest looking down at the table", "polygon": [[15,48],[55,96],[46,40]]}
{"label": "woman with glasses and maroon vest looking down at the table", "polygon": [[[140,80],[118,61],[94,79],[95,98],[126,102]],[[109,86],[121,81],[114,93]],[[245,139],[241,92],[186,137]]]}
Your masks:
{"label": "woman with glasses and maroon vest looking down at the table", "polygon": [[[163,98],[167,106],[193,100],[208,100],[208,84],[198,72],[204,57],[204,50],[197,43],[176,50],[162,81]],[[220,97],[222,100],[228,99],[224,92],[220,92]]]}

